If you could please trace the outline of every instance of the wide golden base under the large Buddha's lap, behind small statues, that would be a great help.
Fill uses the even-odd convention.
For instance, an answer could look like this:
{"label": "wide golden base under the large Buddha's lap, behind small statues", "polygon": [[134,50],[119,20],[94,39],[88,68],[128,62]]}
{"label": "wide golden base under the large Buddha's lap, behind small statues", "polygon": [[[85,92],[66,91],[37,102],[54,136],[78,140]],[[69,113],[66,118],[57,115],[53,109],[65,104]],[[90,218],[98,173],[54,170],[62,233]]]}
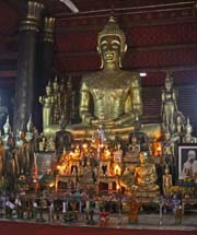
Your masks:
{"label": "wide golden base under the large Buddha's lap, behind small statues", "polygon": [[[134,131],[134,126],[121,126],[114,128],[105,128],[106,139],[114,140],[115,136],[119,136],[123,140],[128,140],[128,136]],[[88,126],[84,124],[69,125],[66,128],[69,131],[74,140],[92,139],[93,134],[96,133],[97,127]],[[44,128],[44,133],[47,137],[55,136],[59,131],[58,125],[50,125]],[[159,139],[161,137],[161,125],[160,124],[146,124],[142,125],[141,131],[146,132],[147,136],[151,139]]]}

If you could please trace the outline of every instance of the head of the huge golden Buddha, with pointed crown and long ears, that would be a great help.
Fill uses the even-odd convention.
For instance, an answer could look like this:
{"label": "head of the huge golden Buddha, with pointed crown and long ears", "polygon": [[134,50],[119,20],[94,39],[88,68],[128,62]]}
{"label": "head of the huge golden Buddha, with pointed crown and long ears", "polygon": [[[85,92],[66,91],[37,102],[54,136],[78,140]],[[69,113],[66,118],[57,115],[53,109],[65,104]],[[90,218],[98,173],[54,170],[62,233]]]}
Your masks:
{"label": "head of the huge golden Buddha, with pointed crown and long ears", "polygon": [[101,55],[103,69],[107,67],[116,66],[121,68],[121,59],[127,50],[127,44],[124,32],[119,28],[113,16],[100,32],[97,36],[97,51]]}

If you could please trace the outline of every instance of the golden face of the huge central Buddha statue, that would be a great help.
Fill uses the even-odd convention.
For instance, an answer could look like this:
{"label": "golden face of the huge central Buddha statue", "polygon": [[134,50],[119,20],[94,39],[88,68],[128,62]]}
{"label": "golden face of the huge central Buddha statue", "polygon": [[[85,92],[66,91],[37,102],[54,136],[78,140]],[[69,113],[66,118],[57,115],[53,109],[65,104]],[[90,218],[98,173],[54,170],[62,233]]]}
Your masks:
{"label": "golden face of the huge central Buddha statue", "polygon": [[99,51],[104,63],[118,63],[120,57],[120,39],[118,36],[109,35],[102,37]]}

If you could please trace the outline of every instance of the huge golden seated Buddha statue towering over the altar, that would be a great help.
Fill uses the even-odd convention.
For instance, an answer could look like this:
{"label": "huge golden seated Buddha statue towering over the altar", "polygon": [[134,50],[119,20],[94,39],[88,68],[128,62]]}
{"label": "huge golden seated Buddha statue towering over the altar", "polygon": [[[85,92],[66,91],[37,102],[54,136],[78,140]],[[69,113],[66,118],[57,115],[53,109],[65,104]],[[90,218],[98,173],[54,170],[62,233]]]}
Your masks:
{"label": "huge golden seated Buddha statue towering over the altar", "polygon": [[[142,114],[141,83],[139,73],[121,70],[126,50],[125,34],[111,16],[97,36],[101,70],[82,78],[79,107],[82,124],[67,127],[74,139],[91,138],[101,125],[109,139],[115,134],[128,139],[134,130],[134,121]],[[48,128],[45,132],[53,130]]]}

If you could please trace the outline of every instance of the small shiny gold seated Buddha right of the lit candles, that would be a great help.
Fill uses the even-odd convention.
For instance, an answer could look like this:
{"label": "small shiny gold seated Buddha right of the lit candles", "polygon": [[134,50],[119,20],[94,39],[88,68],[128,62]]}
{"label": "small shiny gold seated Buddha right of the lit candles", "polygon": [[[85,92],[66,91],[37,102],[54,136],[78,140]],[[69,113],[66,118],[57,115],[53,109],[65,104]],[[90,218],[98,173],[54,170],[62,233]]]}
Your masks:
{"label": "small shiny gold seated Buddha right of the lit candles", "polygon": [[147,152],[140,152],[140,165],[135,169],[136,193],[142,197],[155,196],[159,186],[155,184],[158,176],[155,165],[148,163]]}

